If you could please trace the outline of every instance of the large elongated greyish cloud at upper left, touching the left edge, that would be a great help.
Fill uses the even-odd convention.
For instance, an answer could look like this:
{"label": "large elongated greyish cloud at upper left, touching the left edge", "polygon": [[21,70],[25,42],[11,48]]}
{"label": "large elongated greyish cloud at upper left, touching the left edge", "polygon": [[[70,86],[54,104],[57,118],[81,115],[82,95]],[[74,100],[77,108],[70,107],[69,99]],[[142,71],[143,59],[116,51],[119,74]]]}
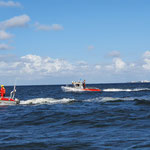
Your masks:
{"label": "large elongated greyish cloud at upper left, touching the left edge", "polygon": [[30,21],[30,17],[27,15],[15,16],[6,21],[0,22],[0,29],[24,27]]}

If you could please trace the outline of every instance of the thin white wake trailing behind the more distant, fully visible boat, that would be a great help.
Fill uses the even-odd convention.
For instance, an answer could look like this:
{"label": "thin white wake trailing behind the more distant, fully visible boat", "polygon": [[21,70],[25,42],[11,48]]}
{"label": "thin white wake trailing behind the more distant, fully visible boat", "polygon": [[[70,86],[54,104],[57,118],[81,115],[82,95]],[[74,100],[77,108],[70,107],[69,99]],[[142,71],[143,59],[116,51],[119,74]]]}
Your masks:
{"label": "thin white wake trailing behind the more distant, fully visible boat", "polygon": [[150,90],[150,88],[135,88],[135,89],[103,89],[104,92],[136,92],[136,91],[144,91],[144,90]]}

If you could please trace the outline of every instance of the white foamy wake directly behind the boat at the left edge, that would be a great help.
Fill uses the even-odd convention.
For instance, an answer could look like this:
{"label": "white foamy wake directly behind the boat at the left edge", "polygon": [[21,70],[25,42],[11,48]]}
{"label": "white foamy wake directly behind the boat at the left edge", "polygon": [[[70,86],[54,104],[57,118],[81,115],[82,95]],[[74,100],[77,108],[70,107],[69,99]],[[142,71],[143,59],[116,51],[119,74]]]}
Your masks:
{"label": "white foamy wake directly behind the boat at the left edge", "polygon": [[29,99],[26,101],[20,101],[21,105],[36,105],[36,104],[64,104],[75,101],[74,99],[63,98],[63,99],[54,99],[54,98],[35,98]]}

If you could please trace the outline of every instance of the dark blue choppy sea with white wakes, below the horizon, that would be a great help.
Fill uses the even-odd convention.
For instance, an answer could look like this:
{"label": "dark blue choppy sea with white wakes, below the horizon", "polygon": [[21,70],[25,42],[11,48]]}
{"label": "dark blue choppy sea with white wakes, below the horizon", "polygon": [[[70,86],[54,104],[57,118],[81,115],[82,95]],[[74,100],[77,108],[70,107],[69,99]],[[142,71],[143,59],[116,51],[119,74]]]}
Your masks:
{"label": "dark blue choppy sea with white wakes, below the horizon", "polygon": [[150,83],[62,86],[16,86],[20,104],[0,105],[0,150],[150,149]]}

